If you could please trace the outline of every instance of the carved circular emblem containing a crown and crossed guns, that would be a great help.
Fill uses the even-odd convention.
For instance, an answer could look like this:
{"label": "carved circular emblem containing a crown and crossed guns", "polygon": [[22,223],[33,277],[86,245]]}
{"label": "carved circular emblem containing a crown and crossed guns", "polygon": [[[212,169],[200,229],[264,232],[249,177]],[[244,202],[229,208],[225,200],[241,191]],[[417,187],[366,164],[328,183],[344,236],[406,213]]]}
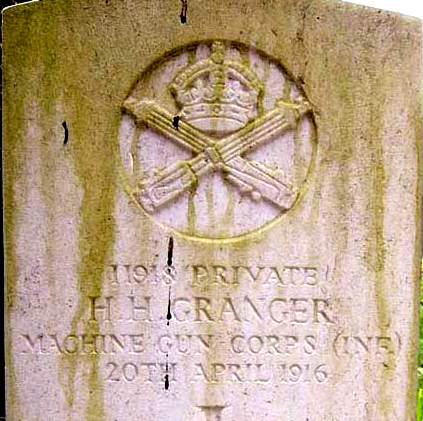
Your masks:
{"label": "carved circular emblem containing a crown and crossed guns", "polygon": [[298,200],[315,155],[304,94],[275,60],[240,44],[166,54],[123,110],[128,191],[184,236],[236,239],[277,222]]}

